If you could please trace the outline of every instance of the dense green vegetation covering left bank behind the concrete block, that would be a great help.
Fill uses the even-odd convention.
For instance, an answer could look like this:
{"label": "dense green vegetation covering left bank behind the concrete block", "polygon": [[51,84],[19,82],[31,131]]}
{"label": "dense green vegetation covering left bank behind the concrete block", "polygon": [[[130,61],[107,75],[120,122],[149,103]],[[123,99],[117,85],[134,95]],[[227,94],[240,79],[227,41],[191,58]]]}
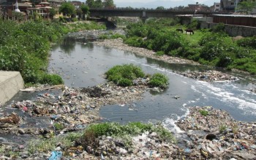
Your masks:
{"label": "dense green vegetation covering left bank behind the concrete block", "polygon": [[70,31],[99,29],[97,23],[68,23],[31,20],[17,23],[0,20],[0,70],[20,71],[26,84],[63,84],[56,74],[48,74],[50,43]]}

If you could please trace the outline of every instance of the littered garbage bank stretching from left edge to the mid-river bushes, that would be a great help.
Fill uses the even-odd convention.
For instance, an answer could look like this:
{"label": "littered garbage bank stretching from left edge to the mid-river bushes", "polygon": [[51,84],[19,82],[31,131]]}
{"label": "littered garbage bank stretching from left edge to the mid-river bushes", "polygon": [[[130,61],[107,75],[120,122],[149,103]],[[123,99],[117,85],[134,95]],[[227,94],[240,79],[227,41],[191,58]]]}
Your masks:
{"label": "littered garbage bank stretching from left edge to the mid-river bushes", "polygon": [[[46,88],[49,89],[49,87]],[[60,88],[62,88],[60,95],[54,95],[48,90],[49,92],[39,93],[36,100],[13,102],[10,108],[13,108],[14,113],[4,114],[0,117],[1,133],[17,132],[21,135],[40,135],[53,130],[58,135],[63,132],[84,129],[86,124],[101,120],[99,109],[102,105],[127,104],[134,100],[140,100],[147,87],[142,83],[135,87],[118,87],[113,83],[107,83],[99,84],[97,87],[78,89],[58,87],[55,89]],[[42,91],[42,88],[39,90]],[[38,91],[28,88],[23,89],[23,92]],[[27,119],[41,117],[48,119],[49,124],[46,127],[48,129],[31,126],[31,124],[29,126]],[[55,124],[61,125],[61,129],[56,130]]]}

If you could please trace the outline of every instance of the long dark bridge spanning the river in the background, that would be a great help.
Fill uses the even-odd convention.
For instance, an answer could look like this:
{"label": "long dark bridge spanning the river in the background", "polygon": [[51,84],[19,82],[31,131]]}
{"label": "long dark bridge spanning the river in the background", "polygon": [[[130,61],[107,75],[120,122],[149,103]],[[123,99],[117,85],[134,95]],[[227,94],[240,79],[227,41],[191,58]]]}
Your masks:
{"label": "long dark bridge spanning the river in the background", "polygon": [[208,10],[189,10],[189,9],[129,9],[129,8],[114,8],[89,9],[91,17],[176,17],[177,15],[228,15],[230,12],[214,12]]}

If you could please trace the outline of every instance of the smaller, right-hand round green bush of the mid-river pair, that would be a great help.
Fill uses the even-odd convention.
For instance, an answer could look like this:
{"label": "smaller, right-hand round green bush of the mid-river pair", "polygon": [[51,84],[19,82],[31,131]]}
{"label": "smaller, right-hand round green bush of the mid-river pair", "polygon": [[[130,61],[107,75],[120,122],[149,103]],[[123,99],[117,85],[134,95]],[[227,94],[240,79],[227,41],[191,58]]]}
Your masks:
{"label": "smaller, right-hand round green bush of the mid-river pair", "polygon": [[149,87],[159,87],[159,88],[166,88],[168,84],[167,76],[163,75],[162,73],[154,73],[151,76],[151,79],[148,82]]}

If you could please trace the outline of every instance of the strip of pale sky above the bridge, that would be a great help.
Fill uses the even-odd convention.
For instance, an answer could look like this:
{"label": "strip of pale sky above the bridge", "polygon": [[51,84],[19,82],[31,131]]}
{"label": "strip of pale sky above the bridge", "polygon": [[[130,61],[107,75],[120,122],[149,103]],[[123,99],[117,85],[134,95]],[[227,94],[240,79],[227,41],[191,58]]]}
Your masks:
{"label": "strip of pale sky above the bridge", "polygon": [[145,7],[145,8],[157,8],[157,7],[178,7],[187,6],[188,4],[205,4],[208,7],[214,5],[214,2],[220,0],[113,0],[116,7]]}

